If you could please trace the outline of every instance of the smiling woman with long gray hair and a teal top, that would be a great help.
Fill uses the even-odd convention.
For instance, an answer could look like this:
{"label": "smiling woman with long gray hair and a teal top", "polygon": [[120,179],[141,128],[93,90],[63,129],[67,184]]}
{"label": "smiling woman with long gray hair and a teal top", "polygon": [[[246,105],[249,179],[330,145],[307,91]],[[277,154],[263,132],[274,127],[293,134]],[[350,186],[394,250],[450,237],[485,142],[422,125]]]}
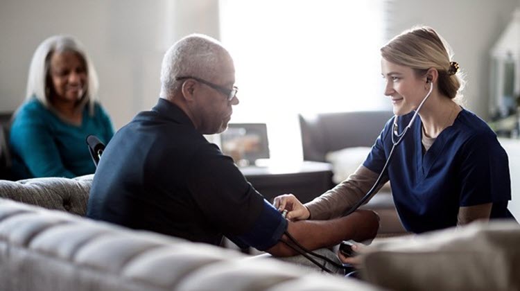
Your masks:
{"label": "smiling woman with long gray hair and a teal top", "polygon": [[76,39],[57,35],[37,47],[10,130],[15,178],[94,173],[86,137],[108,143],[114,134],[97,93],[96,71]]}

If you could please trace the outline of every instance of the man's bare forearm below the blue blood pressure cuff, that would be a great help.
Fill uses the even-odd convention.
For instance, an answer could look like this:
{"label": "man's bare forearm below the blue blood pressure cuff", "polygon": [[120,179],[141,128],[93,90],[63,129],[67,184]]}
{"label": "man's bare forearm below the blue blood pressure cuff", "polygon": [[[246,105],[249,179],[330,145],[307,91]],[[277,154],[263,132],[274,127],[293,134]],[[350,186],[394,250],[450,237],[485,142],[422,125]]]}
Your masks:
{"label": "man's bare forearm below the blue blood pressure cuff", "polygon": [[[288,233],[306,249],[315,250],[322,247],[338,245],[342,240],[372,240],[379,229],[379,217],[374,211],[358,210],[351,215],[333,220],[300,220],[288,222]],[[284,234],[281,240],[291,243]],[[273,256],[295,256],[298,253],[279,242],[267,249]]]}

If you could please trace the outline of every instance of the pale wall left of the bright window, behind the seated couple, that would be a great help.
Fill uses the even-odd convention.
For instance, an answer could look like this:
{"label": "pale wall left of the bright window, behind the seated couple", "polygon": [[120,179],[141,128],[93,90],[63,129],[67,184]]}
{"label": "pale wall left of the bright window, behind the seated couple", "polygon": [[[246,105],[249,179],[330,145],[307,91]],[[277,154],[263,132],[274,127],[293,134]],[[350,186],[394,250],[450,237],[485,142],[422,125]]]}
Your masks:
{"label": "pale wall left of the bright window, behind the seated couple", "polygon": [[85,44],[101,103],[119,128],[157,102],[162,55],[175,40],[218,37],[217,7],[214,0],[0,0],[0,112],[23,101],[37,45],[65,33]]}

